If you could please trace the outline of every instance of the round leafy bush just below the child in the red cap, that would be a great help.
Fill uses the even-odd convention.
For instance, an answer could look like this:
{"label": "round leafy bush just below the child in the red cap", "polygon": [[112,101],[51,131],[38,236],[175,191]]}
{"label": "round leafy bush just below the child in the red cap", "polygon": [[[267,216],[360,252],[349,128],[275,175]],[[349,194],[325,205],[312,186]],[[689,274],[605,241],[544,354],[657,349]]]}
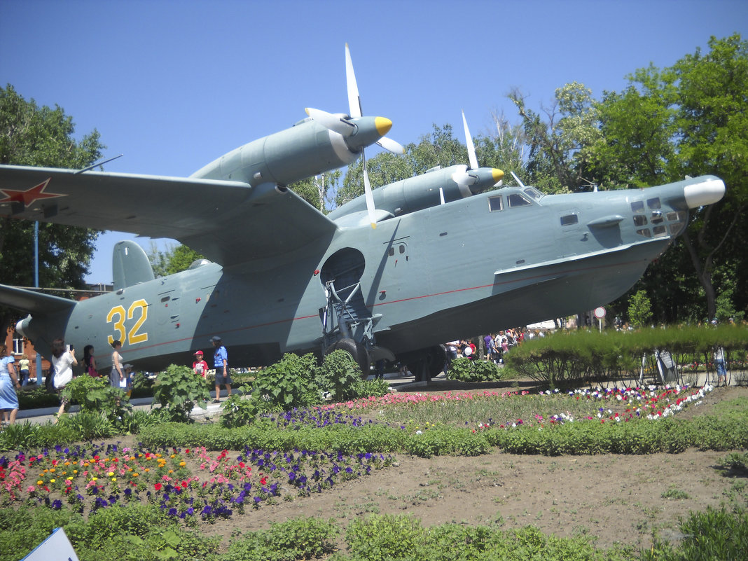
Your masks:
{"label": "round leafy bush just below the child in the red cap", "polygon": [[206,408],[210,392],[205,381],[194,375],[190,367],[171,364],[159,373],[153,390],[153,401],[159,402],[163,413],[171,420],[186,423],[195,405]]}

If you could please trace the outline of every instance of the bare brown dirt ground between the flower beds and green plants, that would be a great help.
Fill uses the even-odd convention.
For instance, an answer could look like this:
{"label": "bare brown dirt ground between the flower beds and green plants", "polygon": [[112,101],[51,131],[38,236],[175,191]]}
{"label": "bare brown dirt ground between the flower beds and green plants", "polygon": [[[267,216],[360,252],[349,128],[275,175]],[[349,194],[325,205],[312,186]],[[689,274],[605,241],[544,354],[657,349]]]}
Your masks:
{"label": "bare brown dirt ground between the flower beds and green plants", "polygon": [[[466,389],[447,384],[419,391]],[[451,385],[451,384],[450,384]],[[473,390],[506,386],[471,384]],[[723,399],[747,398],[748,388],[716,389],[683,417],[708,414]],[[677,540],[678,517],[707,506],[748,500],[746,480],[723,468],[724,452],[687,450],[649,456],[518,456],[494,452],[472,458],[397,456],[396,465],[343,482],[322,494],[296,497],[205,524],[224,537],[269,527],[299,516],[332,518],[340,527],[353,518],[409,513],[423,525],[456,522],[504,530],[533,525],[557,536],[583,535],[598,546],[646,548],[657,531]],[[674,491],[682,491],[675,493]],[[664,495],[664,496],[663,496]],[[342,543],[342,539],[341,539]]]}

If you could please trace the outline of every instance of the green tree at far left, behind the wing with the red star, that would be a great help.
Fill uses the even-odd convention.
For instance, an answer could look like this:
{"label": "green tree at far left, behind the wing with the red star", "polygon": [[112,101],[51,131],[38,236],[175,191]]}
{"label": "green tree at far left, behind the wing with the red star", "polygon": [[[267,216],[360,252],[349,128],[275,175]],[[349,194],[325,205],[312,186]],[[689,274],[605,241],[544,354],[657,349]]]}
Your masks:
{"label": "green tree at far left, behind the wing with the red star", "polygon": [[[7,85],[0,88],[0,164],[82,169],[105,148],[96,129],[73,138],[73,117],[55,106],[39,107]],[[39,224],[40,286],[82,288],[93,255],[96,230]],[[34,224],[0,217],[0,283],[34,284]],[[11,317],[2,314],[2,325]]]}

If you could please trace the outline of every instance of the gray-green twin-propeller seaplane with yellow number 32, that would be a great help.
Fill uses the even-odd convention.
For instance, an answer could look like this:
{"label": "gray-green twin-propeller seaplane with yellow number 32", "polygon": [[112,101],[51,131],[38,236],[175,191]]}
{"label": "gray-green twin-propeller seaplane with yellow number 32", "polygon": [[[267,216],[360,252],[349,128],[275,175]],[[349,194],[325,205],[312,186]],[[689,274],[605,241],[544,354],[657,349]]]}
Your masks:
{"label": "gray-green twin-propeller seaplane with yellow number 32", "polygon": [[365,194],[324,215],[286,185],[374,143],[402,152],[384,137],[390,120],[362,115],[347,45],[346,76],[348,114],[307,109],[188,178],[0,166],[0,215],[173,238],[208,259],[154,278],[142,248],[120,242],[114,292],[76,302],[0,285],[0,303],[28,313],[17,331],[43,355],[57,337],[91,344],[99,367],[113,340],[126,362],[159,370],[219,335],[236,366],[345,349],[366,373],[397,359],[427,380],[444,341],[622,295],[689,209],[725,191],[713,176],[578,194],[494,188],[503,172],[479,167],[465,123],[469,166],[373,190],[364,173]]}

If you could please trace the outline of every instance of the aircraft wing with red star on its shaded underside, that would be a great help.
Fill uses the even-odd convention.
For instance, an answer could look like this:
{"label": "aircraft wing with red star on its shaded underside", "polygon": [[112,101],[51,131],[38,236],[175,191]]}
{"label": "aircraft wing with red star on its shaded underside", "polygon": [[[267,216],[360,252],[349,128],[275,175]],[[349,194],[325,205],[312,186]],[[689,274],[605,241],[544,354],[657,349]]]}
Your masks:
{"label": "aircraft wing with red star on its shaded underside", "polygon": [[337,230],[286,188],[263,183],[0,165],[0,216],[177,239],[233,266]]}

